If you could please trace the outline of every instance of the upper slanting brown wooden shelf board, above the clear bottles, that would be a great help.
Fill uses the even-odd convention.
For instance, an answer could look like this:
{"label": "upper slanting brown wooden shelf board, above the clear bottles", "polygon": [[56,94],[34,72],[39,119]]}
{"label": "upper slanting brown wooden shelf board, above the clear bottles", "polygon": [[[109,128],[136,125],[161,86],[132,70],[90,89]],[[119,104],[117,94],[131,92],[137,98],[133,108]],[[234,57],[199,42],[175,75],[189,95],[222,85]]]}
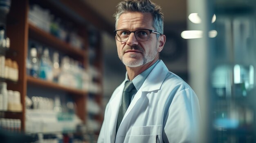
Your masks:
{"label": "upper slanting brown wooden shelf board, above the clear bottles", "polygon": [[72,56],[73,58],[85,59],[86,51],[71,46],[70,44],[56,38],[55,36],[43,31],[42,29],[29,23],[29,38],[38,40],[39,42],[45,43],[53,48],[63,51],[65,54]]}

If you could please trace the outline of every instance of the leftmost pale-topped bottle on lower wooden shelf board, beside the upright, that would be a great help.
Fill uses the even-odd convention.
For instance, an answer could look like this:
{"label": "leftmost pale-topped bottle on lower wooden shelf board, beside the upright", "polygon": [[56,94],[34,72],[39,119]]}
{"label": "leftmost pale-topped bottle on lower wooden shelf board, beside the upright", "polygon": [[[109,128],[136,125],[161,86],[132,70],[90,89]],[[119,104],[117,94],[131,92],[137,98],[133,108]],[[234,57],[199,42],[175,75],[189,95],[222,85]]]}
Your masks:
{"label": "leftmost pale-topped bottle on lower wooden shelf board, beside the upright", "polygon": [[32,48],[30,49],[30,61],[31,61],[31,69],[30,69],[30,75],[34,78],[38,78],[38,58],[37,58],[37,50],[32,45]]}

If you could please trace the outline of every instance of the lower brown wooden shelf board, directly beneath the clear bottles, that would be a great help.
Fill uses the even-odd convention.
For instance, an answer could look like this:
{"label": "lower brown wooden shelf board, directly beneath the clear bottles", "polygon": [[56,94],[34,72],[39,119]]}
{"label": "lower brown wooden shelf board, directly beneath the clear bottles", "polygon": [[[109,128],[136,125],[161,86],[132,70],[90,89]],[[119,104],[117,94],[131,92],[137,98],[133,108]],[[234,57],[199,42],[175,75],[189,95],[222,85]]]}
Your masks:
{"label": "lower brown wooden shelf board, directly beneath the clear bottles", "polygon": [[66,87],[64,85],[59,85],[57,83],[53,83],[53,82],[50,82],[47,80],[42,80],[40,78],[34,78],[31,76],[27,76],[27,83],[33,84],[33,85],[39,85],[39,86],[43,86],[43,87],[48,87],[48,88],[52,88],[52,89],[59,89],[59,90],[65,91],[65,92],[69,92],[70,94],[76,94],[76,95],[80,95],[80,96],[85,96],[87,94],[86,91],[83,91],[81,89]]}

